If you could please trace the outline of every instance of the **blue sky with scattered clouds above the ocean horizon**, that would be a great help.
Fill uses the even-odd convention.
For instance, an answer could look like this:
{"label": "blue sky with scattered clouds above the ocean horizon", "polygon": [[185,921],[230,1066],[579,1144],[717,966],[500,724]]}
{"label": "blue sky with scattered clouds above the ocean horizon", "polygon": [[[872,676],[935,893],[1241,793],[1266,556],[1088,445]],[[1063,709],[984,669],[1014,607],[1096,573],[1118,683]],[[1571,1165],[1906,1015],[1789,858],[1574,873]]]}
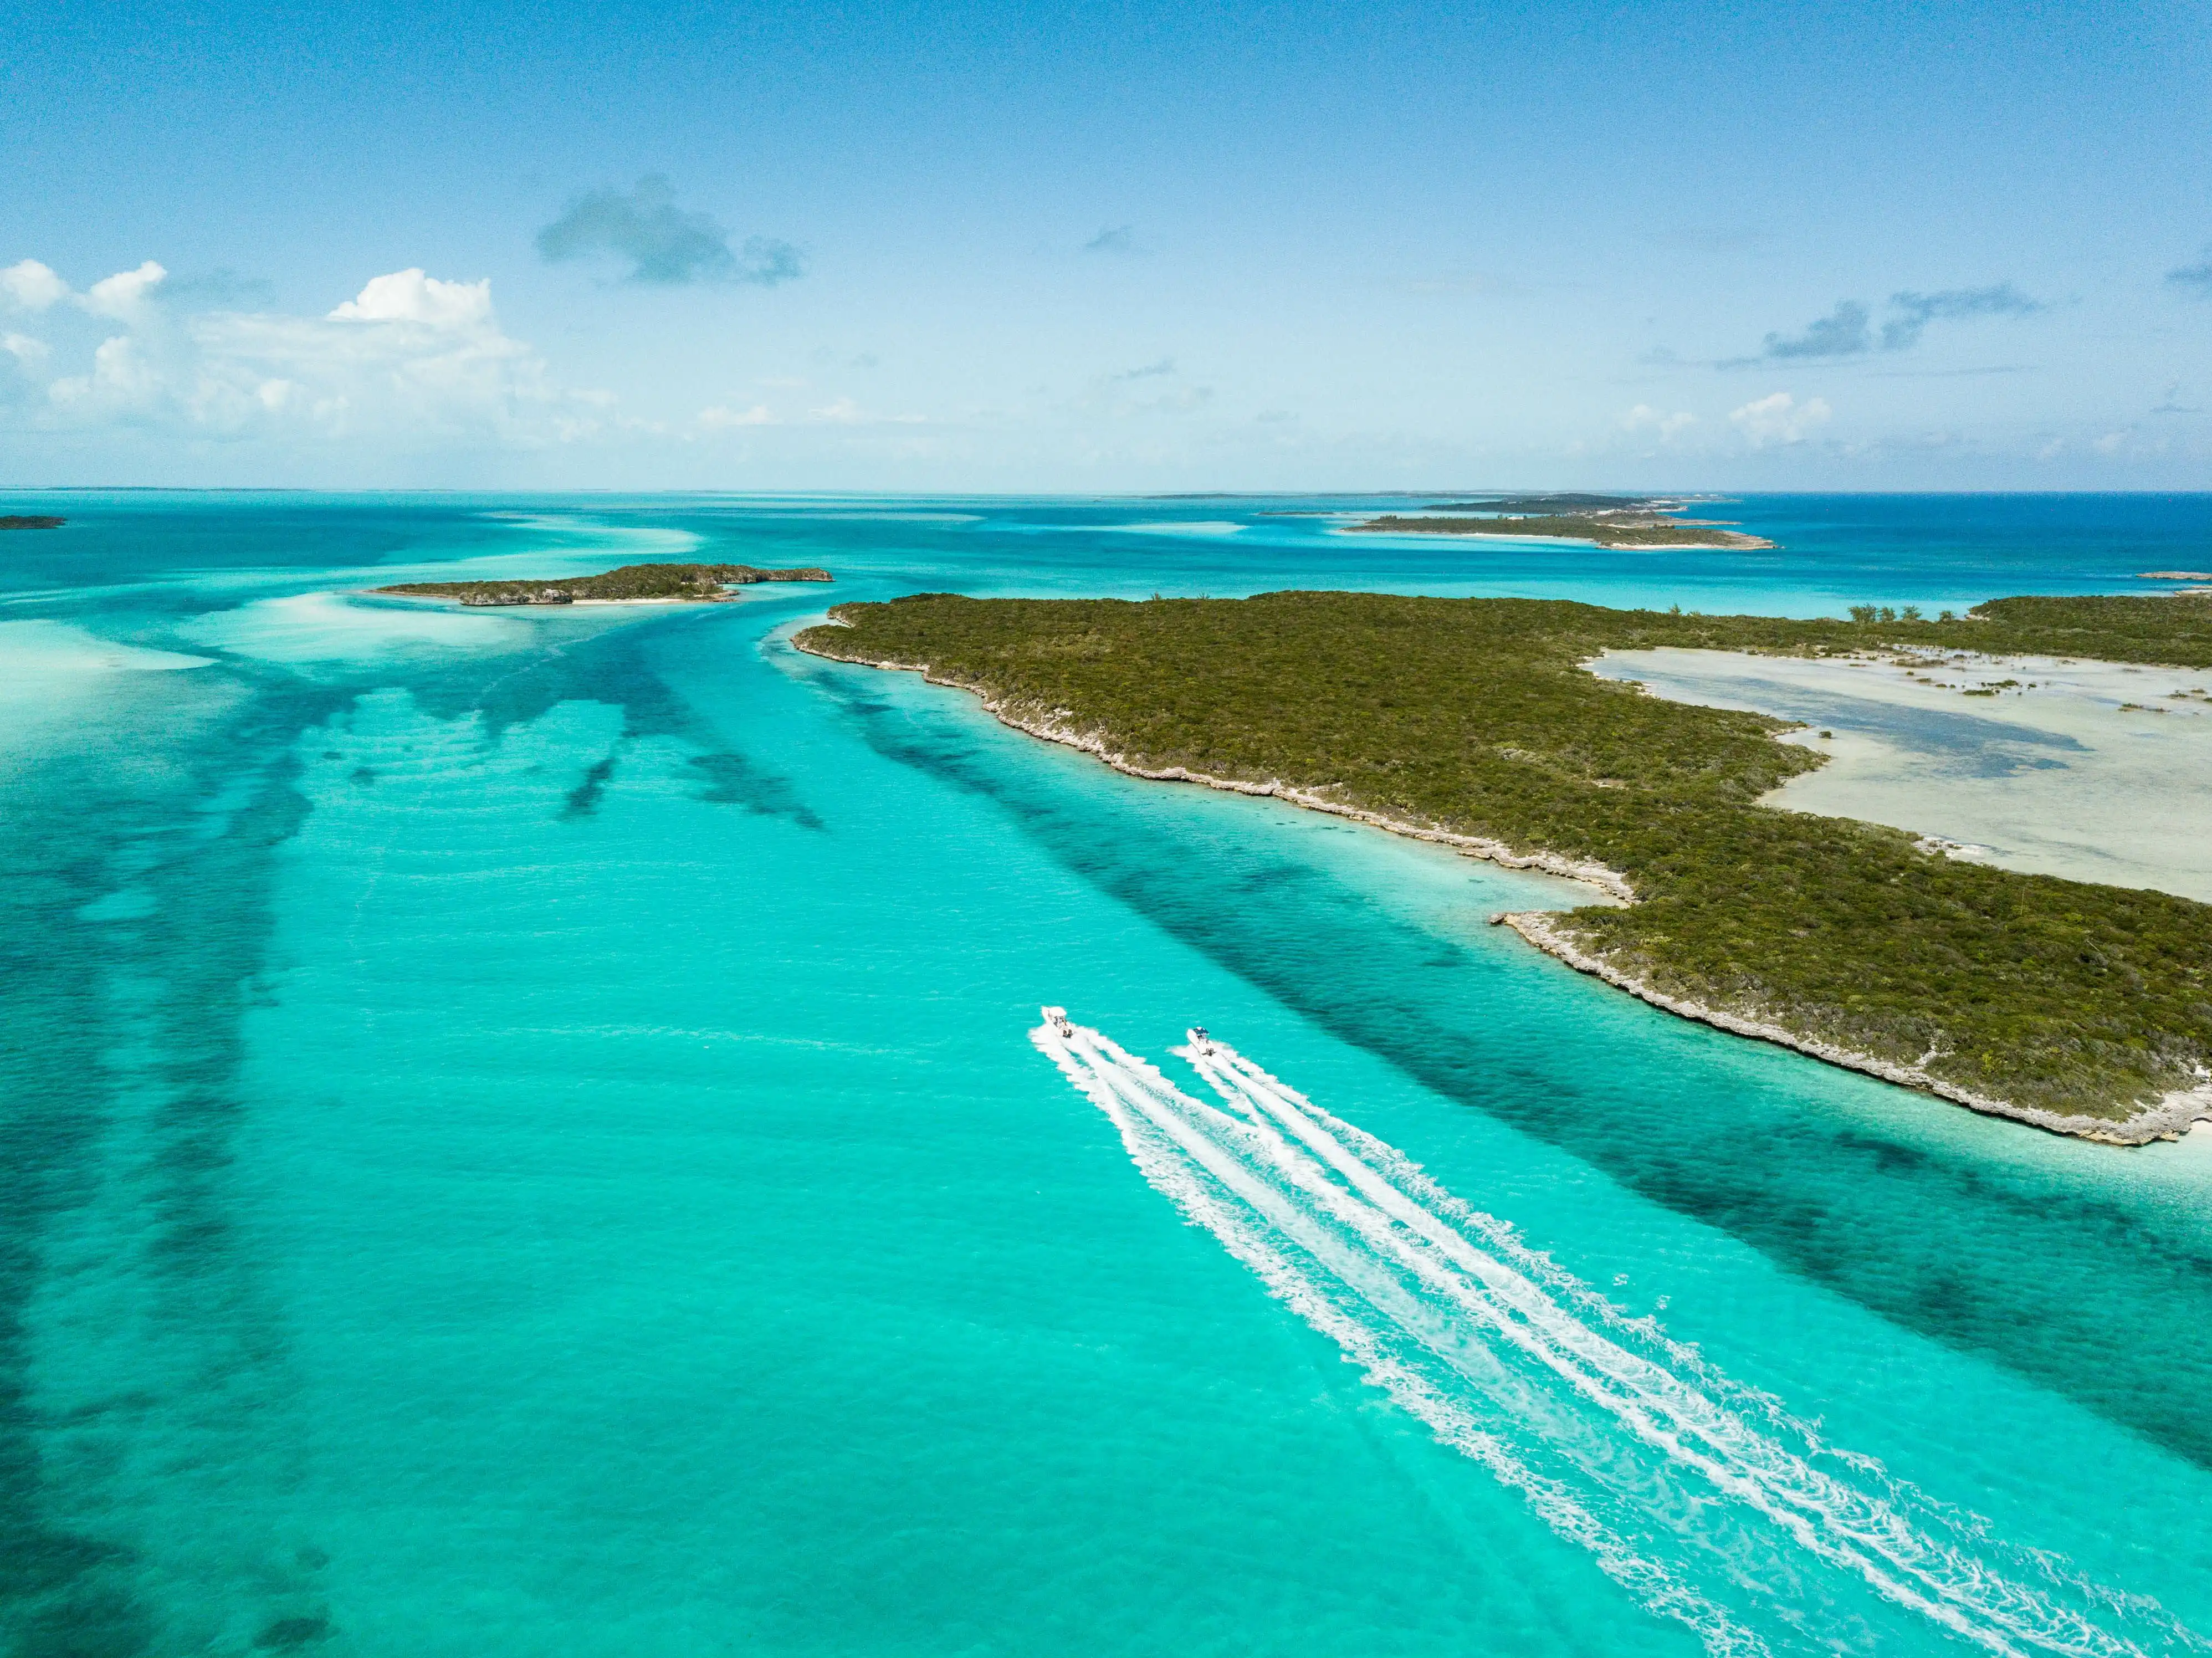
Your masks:
{"label": "blue sky with scattered clouds above the ocean horizon", "polygon": [[29,7],[0,483],[2192,489],[2212,13]]}

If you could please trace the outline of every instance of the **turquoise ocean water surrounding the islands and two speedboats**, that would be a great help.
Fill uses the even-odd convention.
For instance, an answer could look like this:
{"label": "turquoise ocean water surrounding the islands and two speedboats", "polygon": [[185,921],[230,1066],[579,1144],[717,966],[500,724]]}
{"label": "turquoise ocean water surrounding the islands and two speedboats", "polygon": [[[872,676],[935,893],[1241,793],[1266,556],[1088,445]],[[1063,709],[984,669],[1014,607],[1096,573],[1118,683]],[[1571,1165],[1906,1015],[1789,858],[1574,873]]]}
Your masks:
{"label": "turquoise ocean water surrounding the islands and two speedboats", "polygon": [[[1672,1020],[1484,925],[1566,883],[783,640],[2130,591],[2212,498],[1732,507],[1772,553],[1303,505],[0,498],[71,518],[0,538],[7,1649],[2203,1651],[2203,1136]],[[637,558],[838,582],[347,598]]]}

